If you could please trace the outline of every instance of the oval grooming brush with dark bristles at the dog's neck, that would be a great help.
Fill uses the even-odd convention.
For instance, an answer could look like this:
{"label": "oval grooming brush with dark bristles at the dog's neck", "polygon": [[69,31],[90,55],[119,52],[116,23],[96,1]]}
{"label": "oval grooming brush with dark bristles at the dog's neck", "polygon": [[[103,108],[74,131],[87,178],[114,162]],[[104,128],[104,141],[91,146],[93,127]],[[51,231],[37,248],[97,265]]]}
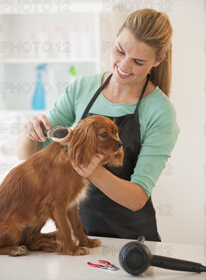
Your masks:
{"label": "oval grooming brush with dark bristles at the dog's neck", "polygon": [[66,143],[69,141],[72,130],[62,124],[52,126],[49,130],[42,129],[45,136],[51,138],[53,141],[58,143]]}

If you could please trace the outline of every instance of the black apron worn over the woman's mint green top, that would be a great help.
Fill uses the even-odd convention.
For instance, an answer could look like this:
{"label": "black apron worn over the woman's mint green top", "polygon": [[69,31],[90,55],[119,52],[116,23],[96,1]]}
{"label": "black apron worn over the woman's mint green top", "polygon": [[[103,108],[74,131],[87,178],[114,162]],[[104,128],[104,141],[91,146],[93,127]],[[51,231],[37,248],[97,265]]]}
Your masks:
{"label": "black apron worn over the woman's mint green top", "polygon": [[[112,74],[97,90],[87,105],[81,119],[97,115],[89,113],[89,110],[111,76]],[[147,76],[134,114],[121,117],[105,116],[112,121],[115,119],[115,124],[119,127],[119,136],[123,143],[125,156],[123,167],[109,167],[107,165],[104,165],[104,167],[115,176],[127,181],[131,180],[131,175],[134,173],[137,157],[141,149],[138,107],[149,79],[152,79],[150,74]],[[132,209],[132,207],[135,207],[135,209]],[[124,207],[108,198],[107,195],[90,182],[89,199],[80,203],[79,215],[87,235],[125,239],[137,239],[143,235],[145,240],[161,241],[157,232],[155,209],[151,197],[144,207],[139,210],[140,207],[140,205],[129,206],[130,209],[135,211]]]}

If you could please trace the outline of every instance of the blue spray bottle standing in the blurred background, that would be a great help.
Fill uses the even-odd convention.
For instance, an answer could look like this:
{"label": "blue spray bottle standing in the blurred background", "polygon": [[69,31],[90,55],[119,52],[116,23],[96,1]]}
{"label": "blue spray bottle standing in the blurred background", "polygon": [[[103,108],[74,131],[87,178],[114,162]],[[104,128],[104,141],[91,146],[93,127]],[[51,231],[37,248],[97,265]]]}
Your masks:
{"label": "blue spray bottle standing in the blurred background", "polygon": [[46,63],[39,65],[37,68],[37,82],[35,85],[35,92],[32,99],[32,109],[44,110],[45,109],[45,92],[42,88],[42,70],[46,71]]}

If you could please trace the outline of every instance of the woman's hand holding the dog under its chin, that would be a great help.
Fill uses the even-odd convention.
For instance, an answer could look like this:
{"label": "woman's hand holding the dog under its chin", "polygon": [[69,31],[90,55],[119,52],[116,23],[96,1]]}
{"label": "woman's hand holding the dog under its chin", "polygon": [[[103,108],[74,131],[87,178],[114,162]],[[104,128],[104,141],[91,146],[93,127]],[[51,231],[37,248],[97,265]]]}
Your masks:
{"label": "woman's hand holding the dog under its chin", "polygon": [[89,178],[89,176],[95,172],[102,158],[103,155],[100,154],[94,155],[92,161],[86,167],[82,167],[82,166],[75,167],[75,164],[72,160],[71,160],[71,164],[73,166],[73,169],[76,171],[78,175],[80,175],[83,178]]}

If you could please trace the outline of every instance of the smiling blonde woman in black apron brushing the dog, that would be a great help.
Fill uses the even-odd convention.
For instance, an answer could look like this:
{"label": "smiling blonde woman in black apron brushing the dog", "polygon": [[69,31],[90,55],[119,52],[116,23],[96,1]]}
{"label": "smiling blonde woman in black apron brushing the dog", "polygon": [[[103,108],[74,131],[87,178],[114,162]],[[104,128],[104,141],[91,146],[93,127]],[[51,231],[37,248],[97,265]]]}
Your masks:
{"label": "smiling blonde woman in black apron brushing the dog", "polygon": [[41,127],[71,126],[91,115],[115,119],[123,167],[102,169],[100,155],[86,168],[75,167],[91,180],[90,199],[79,205],[87,235],[161,241],[151,194],[179,134],[168,98],[171,36],[165,13],[143,9],[129,15],[111,52],[112,72],[78,77],[48,116],[34,117],[30,134],[18,139],[17,156],[25,159],[50,143]]}

